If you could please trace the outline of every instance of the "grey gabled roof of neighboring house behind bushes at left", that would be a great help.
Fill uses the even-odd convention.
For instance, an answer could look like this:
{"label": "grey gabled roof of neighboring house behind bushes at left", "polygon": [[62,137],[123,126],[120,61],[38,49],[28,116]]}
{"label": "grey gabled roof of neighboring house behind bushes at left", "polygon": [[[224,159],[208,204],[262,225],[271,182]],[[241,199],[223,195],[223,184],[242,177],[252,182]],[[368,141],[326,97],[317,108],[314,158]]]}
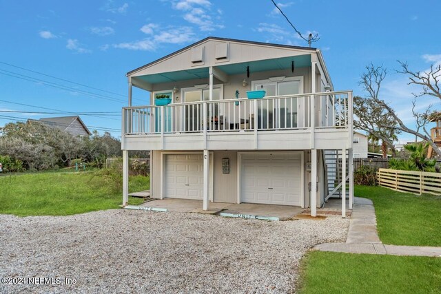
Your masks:
{"label": "grey gabled roof of neighboring house behind bushes at left", "polygon": [[39,123],[44,123],[49,127],[56,127],[63,132],[68,132],[72,134],[72,136],[79,136],[80,138],[92,135],[79,116],[58,116],[53,118],[40,118],[39,120],[30,119],[28,121],[38,121]]}

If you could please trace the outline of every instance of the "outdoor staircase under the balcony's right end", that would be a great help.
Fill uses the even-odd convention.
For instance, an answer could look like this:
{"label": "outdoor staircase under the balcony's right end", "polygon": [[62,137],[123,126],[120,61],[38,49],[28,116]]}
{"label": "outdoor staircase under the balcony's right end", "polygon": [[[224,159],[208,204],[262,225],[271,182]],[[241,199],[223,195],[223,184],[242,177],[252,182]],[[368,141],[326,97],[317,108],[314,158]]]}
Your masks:
{"label": "outdoor staircase under the balcony's right end", "polygon": [[[322,156],[326,165],[325,170],[327,176],[327,197],[325,198],[325,200],[327,200],[328,198],[341,198],[342,187],[340,183],[342,182],[342,175],[343,175],[341,151],[323,150]],[[349,164],[346,165],[346,174],[348,174],[348,171],[349,171]],[[336,187],[338,187],[338,189],[336,189]],[[334,193],[331,194],[331,192],[333,191]],[[346,181],[346,198],[349,198],[349,180]]]}

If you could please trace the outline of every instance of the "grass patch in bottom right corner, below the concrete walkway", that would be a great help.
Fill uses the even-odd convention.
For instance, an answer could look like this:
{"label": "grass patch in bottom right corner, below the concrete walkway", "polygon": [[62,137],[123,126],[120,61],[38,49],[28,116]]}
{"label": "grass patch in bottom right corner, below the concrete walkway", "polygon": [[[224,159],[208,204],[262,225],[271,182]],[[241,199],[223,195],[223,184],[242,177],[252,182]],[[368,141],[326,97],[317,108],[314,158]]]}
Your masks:
{"label": "grass patch in bottom right corner, below the concrete walkway", "polygon": [[441,293],[441,258],[311,251],[300,293]]}

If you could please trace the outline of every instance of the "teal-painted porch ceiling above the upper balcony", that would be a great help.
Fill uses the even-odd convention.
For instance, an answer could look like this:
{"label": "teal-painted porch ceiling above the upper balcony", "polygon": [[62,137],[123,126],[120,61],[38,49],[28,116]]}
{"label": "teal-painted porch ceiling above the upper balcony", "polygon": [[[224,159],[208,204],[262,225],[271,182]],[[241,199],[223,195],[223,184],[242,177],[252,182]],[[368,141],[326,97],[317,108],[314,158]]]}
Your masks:
{"label": "teal-painted porch ceiling above the upper balcony", "polygon": [[[289,56],[277,59],[265,59],[260,61],[249,61],[243,63],[225,64],[216,66],[218,69],[225,72],[225,74],[232,76],[234,74],[243,74],[246,72],[249,66],[249,71],[253,72],[266,72],[269,70],[287,70],[291,68],[291,61],[294,61],[296,68],[298,67],[310,67],[311,55],[305,54],[300,56]],[[136,76],[135,79],[139,79],[145,83],[157,84],[157,83],[169,83],[176,81],[185,81],[198,78],[208,78],[208,67],[194,68],[191,70],[181,70],[178,72],[162,72],[160,74],[147,74],[145,76]]]}

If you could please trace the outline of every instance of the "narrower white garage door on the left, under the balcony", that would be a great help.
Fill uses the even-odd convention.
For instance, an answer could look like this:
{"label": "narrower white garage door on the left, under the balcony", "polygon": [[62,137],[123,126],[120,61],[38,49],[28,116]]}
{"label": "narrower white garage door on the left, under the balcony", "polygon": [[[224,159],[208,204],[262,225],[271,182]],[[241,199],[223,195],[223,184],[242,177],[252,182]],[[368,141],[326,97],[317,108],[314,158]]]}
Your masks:
{"label": "narrower white garage door on the left, under the balcony", "polygon": [[203,155],[165,155],[164,197],[203,199]]}

